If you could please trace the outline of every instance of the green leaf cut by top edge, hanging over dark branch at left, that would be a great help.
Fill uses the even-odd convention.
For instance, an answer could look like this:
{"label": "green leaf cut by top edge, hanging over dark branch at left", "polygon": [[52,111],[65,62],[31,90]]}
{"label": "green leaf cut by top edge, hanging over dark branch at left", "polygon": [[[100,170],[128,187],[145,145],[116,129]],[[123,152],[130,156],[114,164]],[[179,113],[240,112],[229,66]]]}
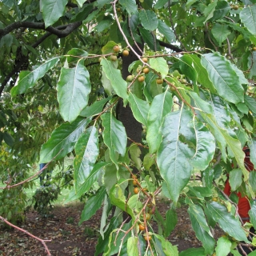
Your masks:
{"label": "green leaf cut by top edge, hanging over dark branch at left", "polygon": [[64,15],[68,0],[43,0],[42,18],[45,26],[48,27],[58,21]]}

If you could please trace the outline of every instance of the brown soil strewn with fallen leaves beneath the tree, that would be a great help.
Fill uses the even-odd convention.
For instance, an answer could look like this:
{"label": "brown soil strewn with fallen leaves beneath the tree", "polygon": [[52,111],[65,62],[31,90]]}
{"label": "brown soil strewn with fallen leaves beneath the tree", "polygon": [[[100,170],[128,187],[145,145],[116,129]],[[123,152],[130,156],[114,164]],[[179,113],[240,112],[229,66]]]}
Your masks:
{"label": "brown soil strewn with fallen leaves beneath the tree", "polygon": [[[168,202],[158,202],[158,210],[165,214]],[[90,218],[89,221],[78,225],[82,204],[55,206],[50,218],[41,218],[35,211],[26,214],[26,222],[20,227],[38,238],[50,239],[46,242],[52,256],[94,256],[95,246],[98,242],[99,225],[102,210]],[[215,230],[215,236],[222,234]],[[168,240],[178,246],[178,250],[202,246],[195,237],[185,206],[178,208],[178,224]],[[46,250],[41,242],[22,233],[19,230],[7,229],[0,223],[0,255],[38,255],[45,256]]]}

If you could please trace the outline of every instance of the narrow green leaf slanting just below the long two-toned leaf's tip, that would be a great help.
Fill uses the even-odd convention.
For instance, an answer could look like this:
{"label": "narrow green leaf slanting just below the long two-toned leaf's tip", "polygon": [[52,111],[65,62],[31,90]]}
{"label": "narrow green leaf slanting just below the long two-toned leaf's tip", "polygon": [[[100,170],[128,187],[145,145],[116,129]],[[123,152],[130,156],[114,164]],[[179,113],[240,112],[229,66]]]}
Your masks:
{"label": "narrow green leaf slanting just below the long two-toned leaf's tip", "polygon": [[81,184],[78,186],[76,191],[77,198],[81,198],[83,194],[90,190],[94,182],[98,181],[98,178],[103,173],[104,167],[109,164],[110,163],[107,162],[98,162],[94,165],[94,168],[90,171],[90,174],[84,180],[82,180]]}

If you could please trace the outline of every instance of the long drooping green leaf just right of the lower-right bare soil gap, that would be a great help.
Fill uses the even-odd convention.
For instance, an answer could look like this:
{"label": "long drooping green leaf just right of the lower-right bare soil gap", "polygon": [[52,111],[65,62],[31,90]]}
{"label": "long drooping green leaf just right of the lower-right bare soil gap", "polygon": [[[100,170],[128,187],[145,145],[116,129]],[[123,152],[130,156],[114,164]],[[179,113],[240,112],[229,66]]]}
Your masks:
{"label": "long drooping green leaf just right of the lower-right bare soil gap", "polygon": [[206,254],[211,255],[214,251],[215,240],[212,237],[212,234],[210,234],[210,228],[207,225],[202,208],[199,206],[190,205],[188,213],[190,214],[190,221],[196,237],[202,242]]}

